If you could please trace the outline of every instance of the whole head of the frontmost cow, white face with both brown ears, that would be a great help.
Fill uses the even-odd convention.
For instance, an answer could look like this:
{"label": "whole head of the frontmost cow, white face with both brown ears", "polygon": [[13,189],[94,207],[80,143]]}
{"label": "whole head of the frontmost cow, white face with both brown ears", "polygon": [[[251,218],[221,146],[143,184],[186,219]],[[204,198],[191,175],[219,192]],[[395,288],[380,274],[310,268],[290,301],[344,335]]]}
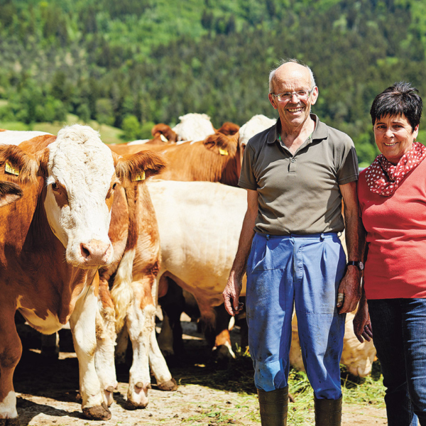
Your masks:
{"label": "whole head of the frontmost cow, white face with both brown ears", "polygon": [[119,157],[97,131],[78,124],[65,127],[50,141],[33,155],[11,147],[5,161],[9,158],[21,180],[28,174],[45,177],[45,214],[66,249],[66,261],[79,268],[108,265],[113,259],[108,231],[114,188],[158,173],[164,160],[149,151]]}

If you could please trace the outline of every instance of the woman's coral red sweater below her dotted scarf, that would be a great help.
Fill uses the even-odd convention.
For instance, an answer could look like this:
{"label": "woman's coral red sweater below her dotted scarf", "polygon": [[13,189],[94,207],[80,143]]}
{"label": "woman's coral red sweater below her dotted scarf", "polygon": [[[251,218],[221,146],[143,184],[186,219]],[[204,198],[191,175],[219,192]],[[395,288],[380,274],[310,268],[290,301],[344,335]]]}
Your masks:
{"label": "woman's coral red sweater below her dotted scarf", "polygon": [[367,231],[367,299],[426,297],[426,160],[391,197],[374,194],[359,175],[358,198]]}

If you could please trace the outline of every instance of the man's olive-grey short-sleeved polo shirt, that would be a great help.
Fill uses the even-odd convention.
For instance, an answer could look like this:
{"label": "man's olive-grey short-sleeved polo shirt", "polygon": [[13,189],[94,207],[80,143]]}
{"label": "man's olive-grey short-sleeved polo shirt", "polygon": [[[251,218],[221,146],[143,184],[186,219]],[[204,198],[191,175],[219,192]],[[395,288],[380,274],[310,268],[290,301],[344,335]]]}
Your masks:
{"label": "man's olive-grey short-sleeved polo shirt", "polygon": [[322,123],[293,155],[280,141],[280,120],[250,139],[239,186],[257,190],[261,234],[320,234],[344,229],[339,185],[358,180],[354,143]]}

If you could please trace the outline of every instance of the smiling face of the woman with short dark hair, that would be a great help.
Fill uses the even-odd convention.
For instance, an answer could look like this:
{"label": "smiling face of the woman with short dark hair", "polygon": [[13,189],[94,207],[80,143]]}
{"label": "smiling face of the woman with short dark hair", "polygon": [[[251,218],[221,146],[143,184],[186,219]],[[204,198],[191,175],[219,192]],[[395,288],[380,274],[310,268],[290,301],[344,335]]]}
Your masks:
{"label": "smiling face of the woman with short dark hair", "polygon": [[419,126],[413,130],[405,115],[381,117],[373,129],[378,149],[392,164],[410,151],[419,133]]}

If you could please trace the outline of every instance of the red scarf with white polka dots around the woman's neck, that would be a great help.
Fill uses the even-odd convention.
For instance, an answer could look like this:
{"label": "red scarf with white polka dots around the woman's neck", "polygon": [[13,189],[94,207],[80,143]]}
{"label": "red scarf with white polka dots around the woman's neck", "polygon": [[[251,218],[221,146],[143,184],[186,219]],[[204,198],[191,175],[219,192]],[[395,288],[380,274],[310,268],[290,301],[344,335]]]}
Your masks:
{"label": "red scarf with white polka dots around the woman's neck", "polygon": [[389,197],[398,188],[405,175],[414,170],[425,157],[426,146],[420,142],[414,142],[413,147],[400,158],[397,165],[386,160],[383,154],[378,155],[373,164],[366,169],[366,180],[370,191]]}

